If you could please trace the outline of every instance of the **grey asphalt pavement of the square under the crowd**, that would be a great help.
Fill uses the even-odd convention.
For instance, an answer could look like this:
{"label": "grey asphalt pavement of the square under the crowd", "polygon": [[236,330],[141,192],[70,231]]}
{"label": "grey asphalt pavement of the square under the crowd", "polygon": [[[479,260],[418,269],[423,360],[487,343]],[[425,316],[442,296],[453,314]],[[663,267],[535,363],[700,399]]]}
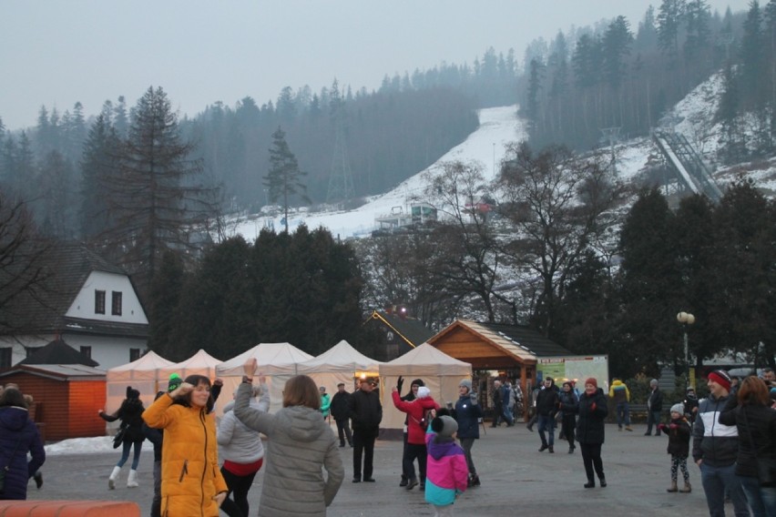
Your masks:
{"label": "grey asphalt pavement of the square under the crowd", "polygon": [[[536,428],[535,428],[536,429]],[[525,424],[514,427],[486,427],[472,450],[482,486],[469,489],[454,505],[454,513],[467,516],[533,515],[708,515],[700,473],[691,459],[691,493],[669,493],[670,456],[668,438],[644,436],[646,426],[618,431],[607,424],[602,458],[608,487],[585,489],[587,481],[579,450],[568,454],[567,442],[556,441],[556,452],[539,452],[536,431]],[[485,431],[485,432],[482,432]],[[333,517],[397,517],[434,515],[417,488],[399,487],[401,441],[377,441],[374,483],[352,482],[352,450],[342,451],[345,480],[329,507]],[[108,490],[107,476],[119,453],[52,455],[43,467],[44,486],[36,490],[30,482],[30,500],[78,499],[138,502],[142,515],[149,514],[153,493],[153,452],[145,442],[138,467],[139,488],[127,488],[128,464],[121,472],[116,490]],[[259,509],[263,469],[250,491],[250,514]],[[681,482],[681,474],[679,474]],[[681,485],[680,485],[681,486]],[[732,507],[726,509],[732,515]],[[223,513],[222,513],[223,514]]]}

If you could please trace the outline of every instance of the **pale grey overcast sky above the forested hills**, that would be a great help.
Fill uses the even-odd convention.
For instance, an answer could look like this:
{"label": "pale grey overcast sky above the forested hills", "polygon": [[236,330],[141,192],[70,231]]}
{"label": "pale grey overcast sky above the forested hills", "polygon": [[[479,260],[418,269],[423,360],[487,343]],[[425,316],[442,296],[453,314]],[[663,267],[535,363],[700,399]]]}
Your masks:
{"label": "pale grey overcast sky above the forested hills", "polygon": [[[383,76],[471,65],[493,46],[522,61],[558,29],[625,15],[635,32],[660,0],[0,0],[0,117],[33,126],[40,106],[87,116],[106,99],[134,106],[162,86],[181,115],[283,86],[373,90]],[[709,0],[712,12],[749,0]]]}

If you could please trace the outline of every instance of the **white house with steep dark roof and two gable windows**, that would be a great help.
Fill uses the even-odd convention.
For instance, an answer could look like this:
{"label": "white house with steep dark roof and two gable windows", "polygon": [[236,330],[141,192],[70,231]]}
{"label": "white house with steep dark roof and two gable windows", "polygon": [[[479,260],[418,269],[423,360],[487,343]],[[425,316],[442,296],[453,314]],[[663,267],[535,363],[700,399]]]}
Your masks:
{"label": "white house with steep dark roof and two gable windows", "polygon": [[148,319],[127,273],[78,243],[57,245],[50,258],[43,299],[14,302],[18,324],[0,334],[0,369],[56,339],[105,370],[145,353]]}

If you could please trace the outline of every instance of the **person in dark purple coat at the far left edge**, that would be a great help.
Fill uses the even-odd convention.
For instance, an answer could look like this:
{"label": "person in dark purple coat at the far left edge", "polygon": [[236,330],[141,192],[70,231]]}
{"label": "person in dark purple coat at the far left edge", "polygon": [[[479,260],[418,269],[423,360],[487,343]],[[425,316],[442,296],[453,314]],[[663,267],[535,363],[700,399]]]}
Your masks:
{"label": "person in dark purple coat at the far left edge", "polygon": [[43,441],[30,420],[25,396],[6,387],[0,395],[0,470],[5,472],[0,500],[26,499],[27,483],[45,461]]}

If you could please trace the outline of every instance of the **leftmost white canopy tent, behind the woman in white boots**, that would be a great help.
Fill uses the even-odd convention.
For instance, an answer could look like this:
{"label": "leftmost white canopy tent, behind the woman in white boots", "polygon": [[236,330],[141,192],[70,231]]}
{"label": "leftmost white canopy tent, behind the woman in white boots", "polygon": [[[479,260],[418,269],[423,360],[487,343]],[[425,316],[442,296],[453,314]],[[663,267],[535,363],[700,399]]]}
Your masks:
{"label": "leftmost white canopy tent, behind the woman in white boots", "polygon": [[117,411],[121,402],[127,398],[128,386],[140,392],[140,400],[148,408],[160,389],[159,381],[163,379],[161,370],[172,364],[172,361],[149,351],[138,360],[107,370],[105,411]]}

